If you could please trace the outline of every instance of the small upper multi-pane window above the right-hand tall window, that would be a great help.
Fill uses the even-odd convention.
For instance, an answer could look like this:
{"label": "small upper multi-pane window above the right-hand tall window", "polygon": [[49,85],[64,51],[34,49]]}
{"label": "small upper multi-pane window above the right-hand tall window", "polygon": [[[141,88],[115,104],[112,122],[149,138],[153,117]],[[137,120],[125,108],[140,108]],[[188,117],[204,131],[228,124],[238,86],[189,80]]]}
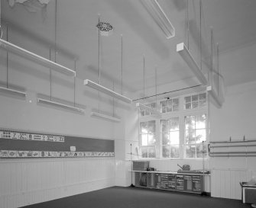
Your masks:
{"label": "small upper multi-pane window above the right-hand tall window", "polygon": [[206,93],[193,94],[184,98],[185,109],[196,109],[206,106]]}

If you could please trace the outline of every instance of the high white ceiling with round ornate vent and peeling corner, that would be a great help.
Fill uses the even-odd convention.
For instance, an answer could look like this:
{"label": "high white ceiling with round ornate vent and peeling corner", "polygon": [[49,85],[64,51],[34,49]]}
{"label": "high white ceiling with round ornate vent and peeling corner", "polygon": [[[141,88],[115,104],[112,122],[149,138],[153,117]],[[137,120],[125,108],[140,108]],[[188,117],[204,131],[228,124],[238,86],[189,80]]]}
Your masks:
{"label": "high white ceiling with round ornate vent and peeling corner", "polygon": [[[8,40],[16,43],[20,34],[28,40],[46,47],[57,44],[57,61],[73,68],[74,59],[79,78],[98,81],[98,14],[101,21],[112,24],[114,34],[101,37],[101,83],[115,86],[120,91],[121,78],[124,91],[134,92],[157,85],[178,82],[193,74],[176,52],[180,42],[190,44],[190,52],[199,62],[199,0],[189,1],[188,36],[186,28],[186,0],[159,0],[176,30],[176,36],[167,40],[140,1],[135,0],[57,0],[45,7],[38,0],[11,7],[2,0],[2,24],[8,22]],[[219,66],[225,85],[236,85],[256,80],[256,1],[203,0],[202,43],[203,62],[209,62],[210,27],[214,43],[219,43]],[[55,24],[55,20],[56,24]],[[56,39],[55,39],[56,32]],[[121,53],[121,34],[123,53]],[[6,37],[6,31],[5,31]],[[189,37],[189,38],[188,38]],[[19,43],[22,46],[22,43]],[[26,48],[26,46],[23,46]],[[28,50],[33,50],[29,49]],[[214,50],[215,51],[215,50]],[[39,54],[47,56],[47,54]],[[121,76],[121,54],[123,73]],[[214,55],[216,53],[214,52]],[[145,56],[145,74],[143,73]],[[216,64],[215,64],[216,65]],[[208,72],[206,66],[203,71]],[[144,82],[145,79],[145,82]],[[171,90],[171,89],[170,89]]]}

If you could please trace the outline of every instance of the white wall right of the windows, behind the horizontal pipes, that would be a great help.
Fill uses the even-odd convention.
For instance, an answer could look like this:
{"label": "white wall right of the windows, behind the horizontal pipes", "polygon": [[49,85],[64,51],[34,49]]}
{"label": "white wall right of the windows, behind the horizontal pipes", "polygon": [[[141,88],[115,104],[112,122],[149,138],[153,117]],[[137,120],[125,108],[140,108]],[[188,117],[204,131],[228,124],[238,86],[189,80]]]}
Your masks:
{"label": "white wall right of the windows, behind the horizontal pipes", "polygon": [[[256,139],[256,82],[234,85],[227,89],[225,103],[218,109],[210,105],[210,141],[242,141]],[[255,151],[255,147],[222,151]],[[211,158],[212,197],[241,199],[239,182],[256,176],[255,157]]]}

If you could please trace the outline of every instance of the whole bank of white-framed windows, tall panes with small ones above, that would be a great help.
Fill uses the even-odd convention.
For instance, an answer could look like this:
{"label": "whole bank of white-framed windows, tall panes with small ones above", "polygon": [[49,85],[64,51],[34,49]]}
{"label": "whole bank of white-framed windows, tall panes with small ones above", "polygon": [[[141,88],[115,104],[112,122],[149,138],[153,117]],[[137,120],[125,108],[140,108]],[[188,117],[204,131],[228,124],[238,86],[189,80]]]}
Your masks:
{"label": "whole bank of white-framed windows, tall panes with small ones above", "polygon": [[208,96],[205,91],[146,104],[161,117],[139,110],[141,158],[203,158],[208,153]]}

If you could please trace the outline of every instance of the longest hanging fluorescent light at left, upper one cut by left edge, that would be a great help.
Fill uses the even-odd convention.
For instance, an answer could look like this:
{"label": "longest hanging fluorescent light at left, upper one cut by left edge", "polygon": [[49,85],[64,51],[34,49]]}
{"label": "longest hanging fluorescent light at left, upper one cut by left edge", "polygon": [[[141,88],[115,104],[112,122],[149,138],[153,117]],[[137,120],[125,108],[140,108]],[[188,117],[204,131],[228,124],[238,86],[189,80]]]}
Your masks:
{"label": "longest hanging fluorescent light at left, upper one cut by left edge", "polygon": [[63,73],[64,75],[76,76],[76,72],[72,69],[68,69],[56,62],[52,62],[49,59],[45,59],[44,57],[31,53],[28,50],[24,50],[15,44],[9,43],[8,41],[0,39],[0,47],[8,52],[15,53],[16,55],[22,56],[25,59],[30,59],[31,61],[41,64],[42,66],[46,66],[49,69]]}

